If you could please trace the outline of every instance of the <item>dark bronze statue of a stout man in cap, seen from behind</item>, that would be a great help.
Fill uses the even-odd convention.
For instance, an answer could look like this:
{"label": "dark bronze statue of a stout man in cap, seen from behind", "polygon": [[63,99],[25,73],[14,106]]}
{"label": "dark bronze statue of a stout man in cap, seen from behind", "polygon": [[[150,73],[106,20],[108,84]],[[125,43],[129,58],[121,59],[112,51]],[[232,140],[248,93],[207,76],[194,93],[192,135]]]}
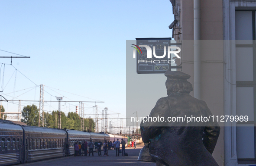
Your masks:
{"label": "dark bronze statue of a stout man in cap, seen from behind", "polygon": [[[157,101],[149,117],[212,116],[204,101],[189,95],[193,91],[187,81],[190,75],[167,71],[165,76],[168,97]],[[143,147],[138,160],[156,162],[157,166],[218,166],[211,155],[220,133],[215,119],[189,123],[165,121],[141,122],[142,139],[148,145]]]}

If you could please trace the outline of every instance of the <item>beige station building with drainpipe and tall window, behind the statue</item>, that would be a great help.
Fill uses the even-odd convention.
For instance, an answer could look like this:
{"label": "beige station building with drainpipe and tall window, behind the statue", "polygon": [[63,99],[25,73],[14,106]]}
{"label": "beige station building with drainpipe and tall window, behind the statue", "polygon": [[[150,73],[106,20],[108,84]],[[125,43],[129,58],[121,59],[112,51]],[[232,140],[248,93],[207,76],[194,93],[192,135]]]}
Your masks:
{"label": "beige station building with drainpipe and tall window, behind the statue", "polygon": [[[172,28],[173,38],[182,43],[181,71],[191,75],[188,81],[194,88],[194,46],[188,49],[186,42],[194,40],[196,9],[193,0],[170,2],[178,21]],[[256,0],[199,2],[201,13],[196,19],[200,20],[200,40],[204,40],[201,69],[196,73],[201,75],[200,98],[215,115],[249,117],[248,122],[225,122],[231,127],[221,127],[213,157],[220,166],[249,166],[256,163]],[[218,41],[218,48],[203,48],[207,42]],[[192,96],[197,93],[194,89]]]}

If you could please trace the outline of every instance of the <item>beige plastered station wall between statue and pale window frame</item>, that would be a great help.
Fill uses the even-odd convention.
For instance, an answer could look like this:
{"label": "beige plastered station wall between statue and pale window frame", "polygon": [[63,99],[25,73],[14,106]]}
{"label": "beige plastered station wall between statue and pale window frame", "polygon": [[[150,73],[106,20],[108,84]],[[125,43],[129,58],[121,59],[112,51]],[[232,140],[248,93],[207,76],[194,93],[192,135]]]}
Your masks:
{"label": "beige plastered station wall between statue and pale window frame", "polygon": [[[194,86],[194,51],[191,44],[191,40],[194,40],[194,3],[193,0],[175,1],[171,1],[172,5],[177,4],[177,1],[181,3],[178,14],[181,21],[179,37],[182,42],[182,72],[191,75],[188,81]],[[177,41],[177,36],[175,40]],[[205,40],[201,42],[201,100],[207,103],[213,114],[224,115],[223,51],[217,51],[223,50],[222,0],[201,0],[201,40]],[[218,48],[211,47],[211,43],[217,44]],[[192,91],[191,96],[193,95]],[[212,155],[220,166],[224,165],[223,127]]]}

